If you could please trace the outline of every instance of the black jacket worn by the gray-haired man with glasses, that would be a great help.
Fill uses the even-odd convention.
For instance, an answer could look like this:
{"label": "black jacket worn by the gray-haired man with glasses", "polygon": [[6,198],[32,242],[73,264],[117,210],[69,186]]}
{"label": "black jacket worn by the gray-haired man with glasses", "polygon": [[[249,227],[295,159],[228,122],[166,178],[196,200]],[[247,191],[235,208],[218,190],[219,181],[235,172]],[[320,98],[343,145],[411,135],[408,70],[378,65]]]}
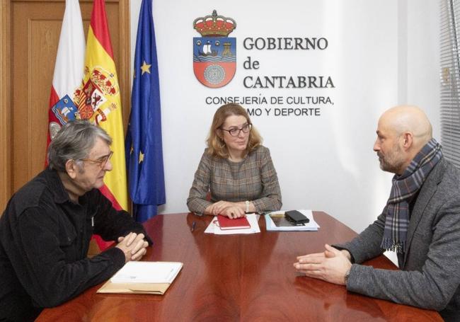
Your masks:
{"label": "black jacket worn by the gray-haired man with glasses", "polygon": [[34,318],[107,280],[125,255],[110,248],[86,258],[91,236],[116,241],[130,231],[146,235],[99,190],[75,204],[57,172],[42,171],[11,197],[0,219],[0,320]]}

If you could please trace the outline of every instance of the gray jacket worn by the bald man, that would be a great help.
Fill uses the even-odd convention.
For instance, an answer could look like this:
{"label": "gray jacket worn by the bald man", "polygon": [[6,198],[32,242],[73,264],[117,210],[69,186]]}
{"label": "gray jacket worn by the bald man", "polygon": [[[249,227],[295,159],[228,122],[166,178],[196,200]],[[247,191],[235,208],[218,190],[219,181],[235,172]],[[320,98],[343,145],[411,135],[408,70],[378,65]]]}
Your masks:
{"label": "gray jacket worn by the bald man", "polygon": [[383,253],[380,244],[385,217],[380,214],[355,239],[338,245],[350,251],[355,260],[347,280],[347,290],[435,309],[447,321],[459,321],[459,171],[443,158],[423,183],[410,214],[408,251],[399,263],[401,270],[358,265]]}

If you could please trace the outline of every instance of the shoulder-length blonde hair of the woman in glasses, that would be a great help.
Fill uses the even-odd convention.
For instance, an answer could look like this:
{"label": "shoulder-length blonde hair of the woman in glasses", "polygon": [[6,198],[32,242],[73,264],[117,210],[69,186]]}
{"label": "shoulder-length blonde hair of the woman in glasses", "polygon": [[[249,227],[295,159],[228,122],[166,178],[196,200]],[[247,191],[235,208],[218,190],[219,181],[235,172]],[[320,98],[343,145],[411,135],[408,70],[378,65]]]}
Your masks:
{"label": "shoulder-length blonde hair of the woman in glasses", "polygon": [[[252,124],[248,112],[246,112],[246,109],[244,109],[241,105],[235,103],[222,105],[217,109],[216,113],[214,113],[214,119],[212,120],[211,129],[209,130],[209,135],[206,140],[208,154],[212,156],[219,156],[223,159],[227,159],[229,157],[229,150],[226,147],[224,139],[222,139],[224,136],[222,125],[224,125],[226,118],[231,115],[244,116],[248,124]],[[251,132],[249,132],[249,141],[248,146],[246,147],[245,156],[260,144],[262,144],[262,137],[260,137],[258,130],[256,130],[255,127],[252,127]]]}

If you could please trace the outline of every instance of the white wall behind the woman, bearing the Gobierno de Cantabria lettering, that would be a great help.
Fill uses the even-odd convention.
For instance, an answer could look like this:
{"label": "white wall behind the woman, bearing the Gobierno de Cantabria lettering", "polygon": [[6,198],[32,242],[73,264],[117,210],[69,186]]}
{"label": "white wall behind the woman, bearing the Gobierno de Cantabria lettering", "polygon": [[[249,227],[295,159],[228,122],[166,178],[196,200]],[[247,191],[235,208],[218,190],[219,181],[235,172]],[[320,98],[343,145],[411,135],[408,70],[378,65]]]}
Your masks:
{"label": "white wall behind the woman, bearing the Gobierno de Cantabria lettering", "polygon": [[[134,56],[140,0],[131,1]],[[261,9],[263,6],[263,10]],[[230,84],[207,88],[192,69],[192,21],[210,14],[234,18],[237,70]],[[376,122],[387,108],[425,108],[439,138],[439,4],[430,0],[155,0],[166,205],[185,212],[217,105],[207,96],[330,96],[320,117],[252,117],[270,148],[284,209],[323,210],[362,231],[389,196],[391,174],[372,151]],[[318,51],[248,51],[246,37],[326,37]],[[259,71],[243,69],[247,56]],[[330,75],[335,88],[248,89],[249,74]],[[248,108],[256,106],[246,106]],[[270,104],[264,106],[273,108]],[[287,106],[284,106],[287,107]]]}

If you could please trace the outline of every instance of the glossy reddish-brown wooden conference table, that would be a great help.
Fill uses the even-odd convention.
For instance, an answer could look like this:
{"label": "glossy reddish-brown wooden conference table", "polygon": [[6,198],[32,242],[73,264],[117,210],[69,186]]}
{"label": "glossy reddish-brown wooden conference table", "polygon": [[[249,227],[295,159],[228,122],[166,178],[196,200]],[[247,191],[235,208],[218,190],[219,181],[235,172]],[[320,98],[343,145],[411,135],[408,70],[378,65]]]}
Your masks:
{"label": "glossy reddish-brown wooden conference table", "polygon": [[[38,321],[442,321],[435,311],[298,276],[297,255],[356,236],[324,212],[314,218],[319,231],[266,231],[261,217],[260,234],[213,235],[203,233],[210,216],[156,216],[144,224],[154,239],[144,260],[184,263],[165,295],[96,294],[97,285]],[[396,269],[383,255],[366,264]]]}

